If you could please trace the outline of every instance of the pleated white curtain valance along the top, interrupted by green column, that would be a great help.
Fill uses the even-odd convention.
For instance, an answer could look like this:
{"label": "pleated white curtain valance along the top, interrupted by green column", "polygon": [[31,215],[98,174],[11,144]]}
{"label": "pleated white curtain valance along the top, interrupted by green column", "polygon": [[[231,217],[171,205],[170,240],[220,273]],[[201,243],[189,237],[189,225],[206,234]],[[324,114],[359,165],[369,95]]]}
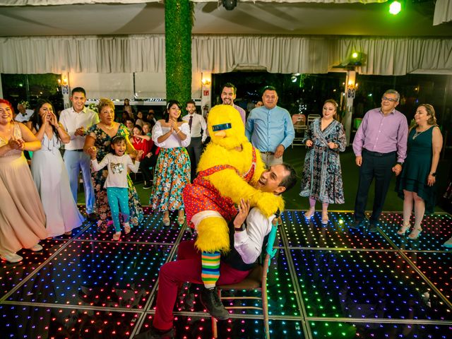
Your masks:
{"label": "pleated white curtain valance along the top, interrupted by green column", "polygon": [[[194,35],[192,70],[225,73],[246,65],[271,73],[326,73],[367,55],[361,74],[452,73],[452,40],[379,37]],[[0,37],[0,73],[165,72],[165,36]]]}

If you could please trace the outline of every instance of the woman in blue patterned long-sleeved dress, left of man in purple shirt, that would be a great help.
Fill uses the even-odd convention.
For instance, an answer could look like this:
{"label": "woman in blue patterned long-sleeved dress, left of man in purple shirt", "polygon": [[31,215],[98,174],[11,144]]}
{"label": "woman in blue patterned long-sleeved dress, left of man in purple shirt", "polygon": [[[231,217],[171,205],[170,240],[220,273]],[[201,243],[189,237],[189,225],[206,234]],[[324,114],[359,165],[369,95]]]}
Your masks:
{"label": "woman in blue patterned long-sleeved dress, left of man in purple shirt", "polygon": [[300,196],[309,196],[310,219],[316,210],[316,201],[322,203],[323,224],[328,223],[328,204],[344,203],[339,152],[345,150],[344,127],[334,119],[338,104],[329,99],[323,104],[323,117],[314,120],[307,131],[306,145],[310,148],[304,158]]}

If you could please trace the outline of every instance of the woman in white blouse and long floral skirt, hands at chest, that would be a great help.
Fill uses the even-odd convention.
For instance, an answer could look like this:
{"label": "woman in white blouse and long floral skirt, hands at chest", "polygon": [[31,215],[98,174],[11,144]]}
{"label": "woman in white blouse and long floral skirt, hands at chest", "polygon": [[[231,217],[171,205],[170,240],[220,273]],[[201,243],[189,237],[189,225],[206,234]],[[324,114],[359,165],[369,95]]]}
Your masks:
{"label": "woman in white blouse and long floral skirt, hands at chest", "polygon": [[179,210],[177,222],[184,224],[182,190],[190,183],[190,158],[186,146],[190,144],[189,124],[181,121],[181,105],[169,100],[165,119],[153,127],[153,141],[160,147],[155,165],[153,192],[150,204],[162,213],[162,222],[169,226],[169,211]]}

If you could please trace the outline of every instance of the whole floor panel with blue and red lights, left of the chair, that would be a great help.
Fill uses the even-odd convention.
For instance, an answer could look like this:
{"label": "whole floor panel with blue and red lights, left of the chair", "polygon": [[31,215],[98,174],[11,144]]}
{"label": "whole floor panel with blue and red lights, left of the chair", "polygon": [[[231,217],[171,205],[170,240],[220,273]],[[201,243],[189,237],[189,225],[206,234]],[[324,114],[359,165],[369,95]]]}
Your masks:
{"label": "whole floor panel with blue and red lights, left of the chair", "polygon": [[8,300],[141,309],[171,249],[73,242]]}

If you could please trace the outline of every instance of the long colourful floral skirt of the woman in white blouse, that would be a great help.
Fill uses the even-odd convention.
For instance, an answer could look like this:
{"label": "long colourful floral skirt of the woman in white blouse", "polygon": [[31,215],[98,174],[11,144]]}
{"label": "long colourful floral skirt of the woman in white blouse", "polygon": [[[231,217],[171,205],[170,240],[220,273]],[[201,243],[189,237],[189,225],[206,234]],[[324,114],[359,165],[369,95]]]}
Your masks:
{"label": "long colourful floral skirt of the woman in white blouse", "polygon": [[150,205],[153,210],[183,210],[182,190],[190,183],[190,158],[184,147],[160,148]]}

